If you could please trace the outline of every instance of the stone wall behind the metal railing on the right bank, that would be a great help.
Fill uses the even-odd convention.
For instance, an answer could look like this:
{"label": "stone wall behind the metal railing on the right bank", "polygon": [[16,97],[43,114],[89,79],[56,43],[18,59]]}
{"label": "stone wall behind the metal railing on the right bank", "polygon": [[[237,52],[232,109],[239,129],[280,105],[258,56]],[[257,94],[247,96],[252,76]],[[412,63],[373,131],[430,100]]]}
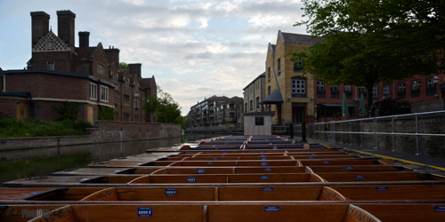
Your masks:
{"label": "stone wall behind the metal railing on the right bank", "polygon": [[[374,136],[375,125],[372,118],[344,123],[307,124],[307,138],[335,141],[336,143],[352,144],[362,147],[377,147],[383,150],[394,149],[397,152],[417,154],[416,135],[392,135],[392,117],[376,118],[377,132],[391,133],[390,135]],[[445,135],[445,116],[418,115],[417,131],[424,134]],[[343,127],[343,129],[342,129]],[[350,130],[351,129],[351,130]],[[415,116],[394,117],[394,133],[416,133]],[[320,133],[314,131],[326,131]],[[331,133],[333,131],[345,133]],[[352,131],[352,133],[349,133]],[[357,132],[364,132],[362,134]],[[433,157],[445,158],[443,136],[418,136],[418,153]]]}

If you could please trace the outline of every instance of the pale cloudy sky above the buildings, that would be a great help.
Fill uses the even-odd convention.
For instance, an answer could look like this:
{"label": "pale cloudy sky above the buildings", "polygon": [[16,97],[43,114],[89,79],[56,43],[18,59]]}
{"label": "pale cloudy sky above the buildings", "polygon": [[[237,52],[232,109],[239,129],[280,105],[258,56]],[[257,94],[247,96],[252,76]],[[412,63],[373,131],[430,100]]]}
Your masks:
{"label": "pale cloudy sky above the buildings", "polygon": [[120,61],[142,63],[142,77],[182,106],[217,96],[243,97],[242,89],[265,70],[267,45],[278,30],[293,27],[303,14],[300,0],[0,0],[0,67],[21,69],[31,57],[30,12],[76,13],[79,31],[90,32],[90,46],[120,50]]}

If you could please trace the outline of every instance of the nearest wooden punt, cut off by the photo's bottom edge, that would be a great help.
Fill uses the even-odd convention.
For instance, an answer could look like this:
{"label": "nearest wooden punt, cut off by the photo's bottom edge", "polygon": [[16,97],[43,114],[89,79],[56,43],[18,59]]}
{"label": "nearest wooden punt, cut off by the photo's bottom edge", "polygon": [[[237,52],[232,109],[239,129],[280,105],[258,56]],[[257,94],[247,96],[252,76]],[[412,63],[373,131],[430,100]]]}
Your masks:
{"label": "nearest wooden punt, cut off by the photo's bottom edge", "polygon": [[[42,206],[12,205],[14,209],[48,207],[49,215],[29,220],[36,221],[443,221],[445,211],[440,203],[190,203],[190,204],[82,204]],[[406,212],[409,212],[407,214]],[[2,213],[0,219],[6,219]],[[48,217],[48,218],[44,218]],[[25,218],[17,217],[18,221]]]}

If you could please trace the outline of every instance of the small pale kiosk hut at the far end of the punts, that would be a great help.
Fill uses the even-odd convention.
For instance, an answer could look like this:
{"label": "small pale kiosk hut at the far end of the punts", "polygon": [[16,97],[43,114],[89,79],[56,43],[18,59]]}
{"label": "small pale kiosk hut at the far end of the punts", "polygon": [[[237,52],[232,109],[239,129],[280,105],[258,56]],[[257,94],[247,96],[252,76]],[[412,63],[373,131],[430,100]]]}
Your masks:
{"label": "small pale kiosk hut at the far end of the punts", "polygon": [[244,135],[271,135],[271,116],[275,112],[244,114]]}

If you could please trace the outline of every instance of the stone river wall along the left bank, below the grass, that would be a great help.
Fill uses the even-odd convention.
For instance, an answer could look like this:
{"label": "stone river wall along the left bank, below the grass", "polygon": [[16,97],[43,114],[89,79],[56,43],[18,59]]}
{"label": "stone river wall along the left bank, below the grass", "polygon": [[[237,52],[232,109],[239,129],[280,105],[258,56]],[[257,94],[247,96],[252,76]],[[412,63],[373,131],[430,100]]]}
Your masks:
{"label": "stone river wall along the left bank, below the grass", "polygon": [[38,138],[0,138],[0,151],[36,147],[59,147],[115,141],[166,139],[181,136],[181,125],[97,121],[90,135]]}

